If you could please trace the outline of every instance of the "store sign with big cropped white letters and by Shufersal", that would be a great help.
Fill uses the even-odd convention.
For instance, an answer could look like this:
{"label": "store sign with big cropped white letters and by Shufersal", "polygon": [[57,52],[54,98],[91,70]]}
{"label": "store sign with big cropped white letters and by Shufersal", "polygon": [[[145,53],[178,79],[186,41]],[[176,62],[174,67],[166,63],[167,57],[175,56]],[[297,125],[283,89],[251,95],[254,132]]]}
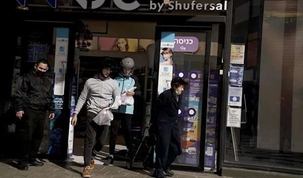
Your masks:
{"label": "store sign with big cropped white letters and by Shufersal", "polygon": [[[87,8],[87,0],[76,0],[83,9]],[[102,7],[106,0],[95,0],[91,2],[91,9],[98,9]],[[112,0],[114,4],[121,10],[124,11],[133,11],[139,8],[141,5],[138,1],[132,3],[124,3],[123,0]],[[154,3],[152,0],[149,1],[149,10],[157,10],[161,12],[164,8],[165,3]],[[226,11],[227,10],[227,1],[222,3],[197,3],[192,1],[191,3],[179,3],[178,1],[169,1],[168,10],[170,11]]]}

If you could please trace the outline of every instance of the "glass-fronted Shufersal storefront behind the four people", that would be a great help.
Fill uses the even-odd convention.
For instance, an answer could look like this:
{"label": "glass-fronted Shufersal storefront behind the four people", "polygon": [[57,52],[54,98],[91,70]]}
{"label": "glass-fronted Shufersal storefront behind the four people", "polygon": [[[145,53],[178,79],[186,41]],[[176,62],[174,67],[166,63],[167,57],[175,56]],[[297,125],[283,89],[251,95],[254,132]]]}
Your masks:
{"label": "glass-fronted Shufersal storefront behind the four people", "polygon": [[12,91],[15,78],[41,58],[49,62],[48,77],[54,80],[56,118],[45,126],[42,157],[78,154],[74,135],[83,135],[85,114],[75,130],[69,118],[81,87],[102,57],[119,64],[129,56],[142,92],[135,103],[134,135],[143,134],[153,117],[151,106],[174,76],[189,83],[179,111],[183,154],[175,169],[302,173],[301,2],[135,1],[138,7],[120,1],[47,2],[19,1],[13,13],[22,50],[14,57]]}

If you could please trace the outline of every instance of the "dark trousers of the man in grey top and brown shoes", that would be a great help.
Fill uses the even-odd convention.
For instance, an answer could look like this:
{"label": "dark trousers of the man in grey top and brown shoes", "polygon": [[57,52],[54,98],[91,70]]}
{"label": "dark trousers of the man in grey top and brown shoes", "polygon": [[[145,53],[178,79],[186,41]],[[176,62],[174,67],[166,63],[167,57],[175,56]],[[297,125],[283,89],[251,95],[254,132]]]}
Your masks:
{"label": "dark trousers of the man in grey top and brown shoes", "polygon": [[[84,166],[89,166],[92,158],[92,150],[99,152],[108,136],[109,125],[97,125],[92,119],[96,116],[95,113],[87,112],[86,115],[86,129],[84,139]],[[93,147],[93,142],[96,144]]]}

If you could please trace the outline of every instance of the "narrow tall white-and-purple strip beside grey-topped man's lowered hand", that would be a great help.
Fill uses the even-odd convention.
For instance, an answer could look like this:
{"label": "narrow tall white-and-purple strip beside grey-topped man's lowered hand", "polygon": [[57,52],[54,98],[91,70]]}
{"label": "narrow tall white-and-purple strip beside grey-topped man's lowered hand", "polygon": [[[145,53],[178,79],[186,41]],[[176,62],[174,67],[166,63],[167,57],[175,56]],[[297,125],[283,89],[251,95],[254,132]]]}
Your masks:
{"label": "narrow tall white-and-purple strip beside grey-topped man's lowered hand", "polygon": [[[76,108],[76,99],[77,99],[77,74],[73,75],[72,81],[72,97],[71,97],[71,112],[70,112],[70,122],[72,121],[74,110]],[[74,147],[74,127],[69,124],[69,132],[68,132],[68,150],[67,157],[70,158],[73,156],[73,147]]]}

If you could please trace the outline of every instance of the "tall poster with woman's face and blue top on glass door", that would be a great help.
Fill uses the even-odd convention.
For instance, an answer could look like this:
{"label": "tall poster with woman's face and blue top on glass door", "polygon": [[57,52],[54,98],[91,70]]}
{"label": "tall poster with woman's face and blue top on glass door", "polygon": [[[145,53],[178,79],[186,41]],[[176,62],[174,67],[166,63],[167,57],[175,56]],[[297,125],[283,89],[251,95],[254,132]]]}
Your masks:
{"label": "tall poster with woman's face and blue top on glass door", "polygon": [[162,32],[160,46],[160,66],[159,66],[159,83],[158,96],[169,90],[173,79],[173,52],[174,52],[175,33]]}

